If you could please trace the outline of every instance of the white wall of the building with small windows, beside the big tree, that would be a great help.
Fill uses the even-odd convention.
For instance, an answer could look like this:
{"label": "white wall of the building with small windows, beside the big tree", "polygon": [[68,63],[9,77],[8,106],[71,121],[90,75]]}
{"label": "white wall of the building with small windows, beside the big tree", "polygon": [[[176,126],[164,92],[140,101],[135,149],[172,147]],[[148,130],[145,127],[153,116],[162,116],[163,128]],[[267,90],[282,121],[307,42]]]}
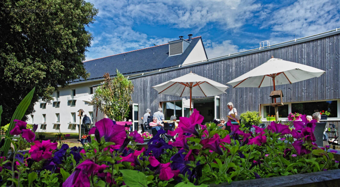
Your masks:
{"label": "white wall of the building with small windows, beside the big tree", "polygon": [[[79,116],[78,116],[78,110],[83,109],[84,113],[83,115],[87,115],[91,118],[91,115],[89,112],[93,111],[93,106],[89,105],[86,102],[83,102],[81,100],[77,100],[75,102],[75,106],[70,106],[70,102],[68,100],[68,97],[71,96],[71,90],[75,89],[75,97],[80,97],[84,95],[90,94],[90,87],[92,85],[99,84],[101,81],[96,82],[88,82],[88,83],[81,83],[81,84],[73,84],[66,86],[64,88],[59,88],[58,91],[60,91],[60,106],[59,108],[53,107],[53,101],[50,104],[46,104],[46,108],[40,108],[40,103],[37,102],[34,105],[35,112],[31,115],[29,115],[28,123],[35,123],[38,124],[37,132],[59,132],[59,130],[54,129],[54,124],[60,124],[60,131],[61,133],[78,133],[78,126],[76,125],[76,128],[74,130],[71,130],[70,124],[79,124]],[[53,97],[55,98],[56,92],[53,94]],[[54,99],[55,101],[55,99]],[[73,122],[73,118],[71,115],[71,112],[75,112],[75,123]],[[59,123],[56,122],[56,113],[59,113]],[[44,124],[43,114],[46,114],[46,130],[42,130],[40,127]],[[32,120],[33,115],[33,120]],[[95,114],[94,114],[95,117]],[[82,119],[83,120],[83,119]],[[92,122],[91,118],[91,122]]]}

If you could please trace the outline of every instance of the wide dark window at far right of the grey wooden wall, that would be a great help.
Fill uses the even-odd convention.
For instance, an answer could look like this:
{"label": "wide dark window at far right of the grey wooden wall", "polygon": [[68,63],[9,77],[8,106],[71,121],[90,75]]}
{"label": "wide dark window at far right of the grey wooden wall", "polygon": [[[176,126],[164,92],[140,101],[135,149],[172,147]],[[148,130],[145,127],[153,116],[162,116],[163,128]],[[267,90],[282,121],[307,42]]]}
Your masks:
{"label": "wide dark window at far right of the grey wooden wall", "polygon": [[320,102],[305,102],[305,103],[292,103],[292,113],[302,113],[312,115],[314,112],[328,111],[330,115],[328,118],[338,117],[338,101],[320,101]]}

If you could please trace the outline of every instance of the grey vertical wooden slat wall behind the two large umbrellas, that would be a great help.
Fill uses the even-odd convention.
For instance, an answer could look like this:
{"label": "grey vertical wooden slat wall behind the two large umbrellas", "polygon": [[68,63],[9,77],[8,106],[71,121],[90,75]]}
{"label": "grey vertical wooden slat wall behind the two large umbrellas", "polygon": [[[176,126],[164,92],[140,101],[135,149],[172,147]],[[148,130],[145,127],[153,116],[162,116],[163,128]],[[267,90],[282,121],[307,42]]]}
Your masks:
{"label": "grey vertical wooden slat wall behind the two large umbrellas", "polygon": [[[277,85],[284,94],[284,102],[299,102],[340,98],[339,46],[340,34],[327,36],[300,44],[292,44],[273,50],[254,52],[244,56],[229,58],[192,67],[183,67],[174,71],[163,72],[138,78],[131,78],[135,85],[132,95],[134,103],[139,104],[139,118],[147,108],[155,112],[159,102],[181,100],[178,96],[158,95],[151,87],[190,71],[222,84],[250,71],[274,56],[283,60],[306,64],[326,71],[319,78],[313,78],[293,84]],[[229,85],[230,86],[230,85]],[[227,114],[228,102],[233,102],[239,113],[257,111],[258,104],[270,103],[269,93],[272,87],[229,88],[220,95],[220,116]],[[188,97],[187,97],[188,98]],[[197,97],[194,97],[197,98]],[[339,126],[338,126],[339,127]]]}

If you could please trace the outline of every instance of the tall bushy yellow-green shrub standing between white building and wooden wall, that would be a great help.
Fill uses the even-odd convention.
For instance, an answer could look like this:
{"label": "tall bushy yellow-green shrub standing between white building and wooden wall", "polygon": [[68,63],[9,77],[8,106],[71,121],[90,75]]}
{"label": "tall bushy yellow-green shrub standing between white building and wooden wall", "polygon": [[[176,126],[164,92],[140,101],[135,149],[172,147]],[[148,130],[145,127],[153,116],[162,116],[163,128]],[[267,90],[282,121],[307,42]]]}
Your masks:
{"label": "tall bushy yellow-green shrub standing between white building and wooden wall", "polygon": [[92,104],[98,107],[108,118],[123,121],[129,114],[133,84],[120,74],[118,69],[117,76],[113,79],[110,78],[108,73],[104,75],[104,78],[105,82],[97,88],[92,98]]}

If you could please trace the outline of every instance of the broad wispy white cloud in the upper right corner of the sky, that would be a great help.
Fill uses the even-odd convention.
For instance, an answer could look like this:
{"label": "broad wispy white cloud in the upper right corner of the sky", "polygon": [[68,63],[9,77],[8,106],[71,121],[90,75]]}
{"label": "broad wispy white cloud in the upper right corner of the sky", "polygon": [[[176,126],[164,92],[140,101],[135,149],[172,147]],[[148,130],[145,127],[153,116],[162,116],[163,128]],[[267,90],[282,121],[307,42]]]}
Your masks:
{"label": "broad wispy white cloud in the upper right corner of the sky", "polygon": [[[297,35],[297,38],[340,27],[339,0],[299,0],[263,15],[261,28],[271,28],[274,34]],[[291,38],[291,39],[294,39]]]}

